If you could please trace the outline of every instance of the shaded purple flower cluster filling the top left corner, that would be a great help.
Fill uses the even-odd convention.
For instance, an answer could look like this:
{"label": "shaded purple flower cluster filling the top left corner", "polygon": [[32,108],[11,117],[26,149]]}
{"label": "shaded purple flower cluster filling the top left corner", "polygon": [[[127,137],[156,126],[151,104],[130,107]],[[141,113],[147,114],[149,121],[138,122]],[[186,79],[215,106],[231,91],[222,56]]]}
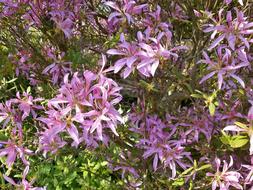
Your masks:
{"label": "shaded purple flower cluster filling the top left corner", "polygon": [[30,27],[41,27],[44,22],[52,20],[58,29],[70,38],[73,35],[75,20],[85,3],[83,1],[75,1],[72,6],[68,5],[68,1],[0,1],[2,3],[2,11],[0,17],[10,17],[20,12],[22,7],[27,6],[26,12],[23,12],[21,18],[26,23],[26,29]]}

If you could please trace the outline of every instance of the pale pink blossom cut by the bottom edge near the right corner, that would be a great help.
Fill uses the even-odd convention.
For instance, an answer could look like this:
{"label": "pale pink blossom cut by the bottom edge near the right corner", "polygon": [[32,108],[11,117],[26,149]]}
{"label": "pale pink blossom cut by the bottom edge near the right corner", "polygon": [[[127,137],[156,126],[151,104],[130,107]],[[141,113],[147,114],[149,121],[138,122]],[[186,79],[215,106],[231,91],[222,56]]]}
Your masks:
{"label": "pale pink blossom cut by the bottom edge near the right corner", "polygon": [[233,166],[233,158],[230,156],[229,164],[223,160],[223,168],[220,171],[221,161],[219,158],[215,158],[216,173],[207,173],[206,175],[212,177],[212,190],[220,188],[220,190],[229,190],[231,186],[236,189],[243,189],[239,183],[241,174],[236,171],[229,171],[229,168]]}

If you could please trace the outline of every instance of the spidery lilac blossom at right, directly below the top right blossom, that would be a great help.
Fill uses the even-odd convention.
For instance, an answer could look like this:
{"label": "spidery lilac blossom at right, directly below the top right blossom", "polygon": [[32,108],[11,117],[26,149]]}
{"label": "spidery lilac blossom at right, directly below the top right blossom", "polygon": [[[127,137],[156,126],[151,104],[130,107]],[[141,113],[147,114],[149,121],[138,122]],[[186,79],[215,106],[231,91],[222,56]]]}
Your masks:
{"label": "spidery lilac blossom at right, directly below the top right blossom", "polygon": [[249,66],[249,61],[244,49],[238,49],[236,52],[237,57],[234,57],[231,50],[226,46],[219,46],[216,51],[215,59],[210,58],[206,52],[203,52],[203,57],[205,59],[200,60],[199,62],[208,64],[207,70],[210,70],[211,72],[204,76],[200,83],[203,83],[217,74],[219,89],[221,89],[222,84],[224,83],[224,78],[228,77],[235,79],[244,88],[245,84],[236,74],[236,71],[240,68]]}

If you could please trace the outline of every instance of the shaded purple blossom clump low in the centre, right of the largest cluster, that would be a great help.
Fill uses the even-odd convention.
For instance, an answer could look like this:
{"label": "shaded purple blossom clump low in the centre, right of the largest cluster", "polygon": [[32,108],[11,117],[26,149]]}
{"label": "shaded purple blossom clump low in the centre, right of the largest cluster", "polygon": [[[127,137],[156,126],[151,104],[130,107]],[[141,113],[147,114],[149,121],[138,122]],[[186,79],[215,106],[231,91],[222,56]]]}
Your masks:
{"label": "shaded purple blossom clump low in the centre, right of the largest cluster", "polygon": [[[139,123],[134,115],[131,115],[134,123]],[[137,123],[136,123],[137,122]],[[134,124],[133,123],[133,124]],[[140,133],[143,137],[136,145],[144,149],[143,158],[153,157],[153,169],[156,171],[159,168],[159,163],[163,168],[171,170],[171,177],[176,177],[177,165],[182,169],[188,168],[190,165],[187,160],[191,160],[190,153],[186,152],[183,147],[183,141],[174,140],[172,136],[175,130],[166,132],[168,127],[156,116],[149,116],[146,122],[140,122],[139,127],[131,128],[132,131]]]}

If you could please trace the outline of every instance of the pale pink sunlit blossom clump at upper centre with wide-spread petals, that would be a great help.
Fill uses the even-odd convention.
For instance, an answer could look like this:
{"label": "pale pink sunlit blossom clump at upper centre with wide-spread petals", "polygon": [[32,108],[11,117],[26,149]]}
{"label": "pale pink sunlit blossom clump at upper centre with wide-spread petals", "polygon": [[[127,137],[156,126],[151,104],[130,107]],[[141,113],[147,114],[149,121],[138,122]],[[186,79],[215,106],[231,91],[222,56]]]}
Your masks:
{"label": "pale pink sunlit blossom clump at upper centre with wide-spread petals", "polygon": [[170,50],[166,49],[160,42],[163,33],[157,39],[149,38],[149,43],[143,41],[143,36],[138,33],[139,43],[127,42],[124,35],[121,35],[121,43],[117,49],[107,51],[110,55],[119,55],[122,58],[118,59],[114,64],[114,72],[119,72],[122,68],[123,77],[127,78],[131,72],[137,69],[146,77],[154,76],[161,61],[177,59],[176,51],[185,49],[184,47],[175,47]]}

